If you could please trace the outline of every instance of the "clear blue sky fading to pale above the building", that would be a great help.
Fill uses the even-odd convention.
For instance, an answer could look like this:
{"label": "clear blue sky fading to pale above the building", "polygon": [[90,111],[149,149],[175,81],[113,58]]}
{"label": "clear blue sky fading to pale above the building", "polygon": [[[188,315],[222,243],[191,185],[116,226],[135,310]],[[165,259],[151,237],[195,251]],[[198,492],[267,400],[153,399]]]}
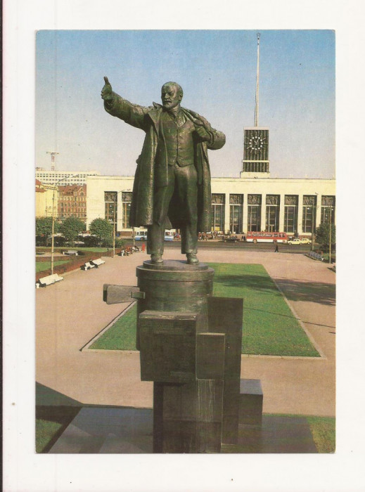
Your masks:
{"label": "clear blue sky fading to pale above the building", "polygon": [[[212,176],[238,176],[243,127],[254,123],[254,30],[40,31],[37,33],[36,165],[133,175],[144,133],[108,115],[100,92],[132,103],[160,103],[172,80],[182,105],[224,131],[210,152]],[[260,119],[270,129],[272,177],[335,173],[335,33],[262,30]]]}

